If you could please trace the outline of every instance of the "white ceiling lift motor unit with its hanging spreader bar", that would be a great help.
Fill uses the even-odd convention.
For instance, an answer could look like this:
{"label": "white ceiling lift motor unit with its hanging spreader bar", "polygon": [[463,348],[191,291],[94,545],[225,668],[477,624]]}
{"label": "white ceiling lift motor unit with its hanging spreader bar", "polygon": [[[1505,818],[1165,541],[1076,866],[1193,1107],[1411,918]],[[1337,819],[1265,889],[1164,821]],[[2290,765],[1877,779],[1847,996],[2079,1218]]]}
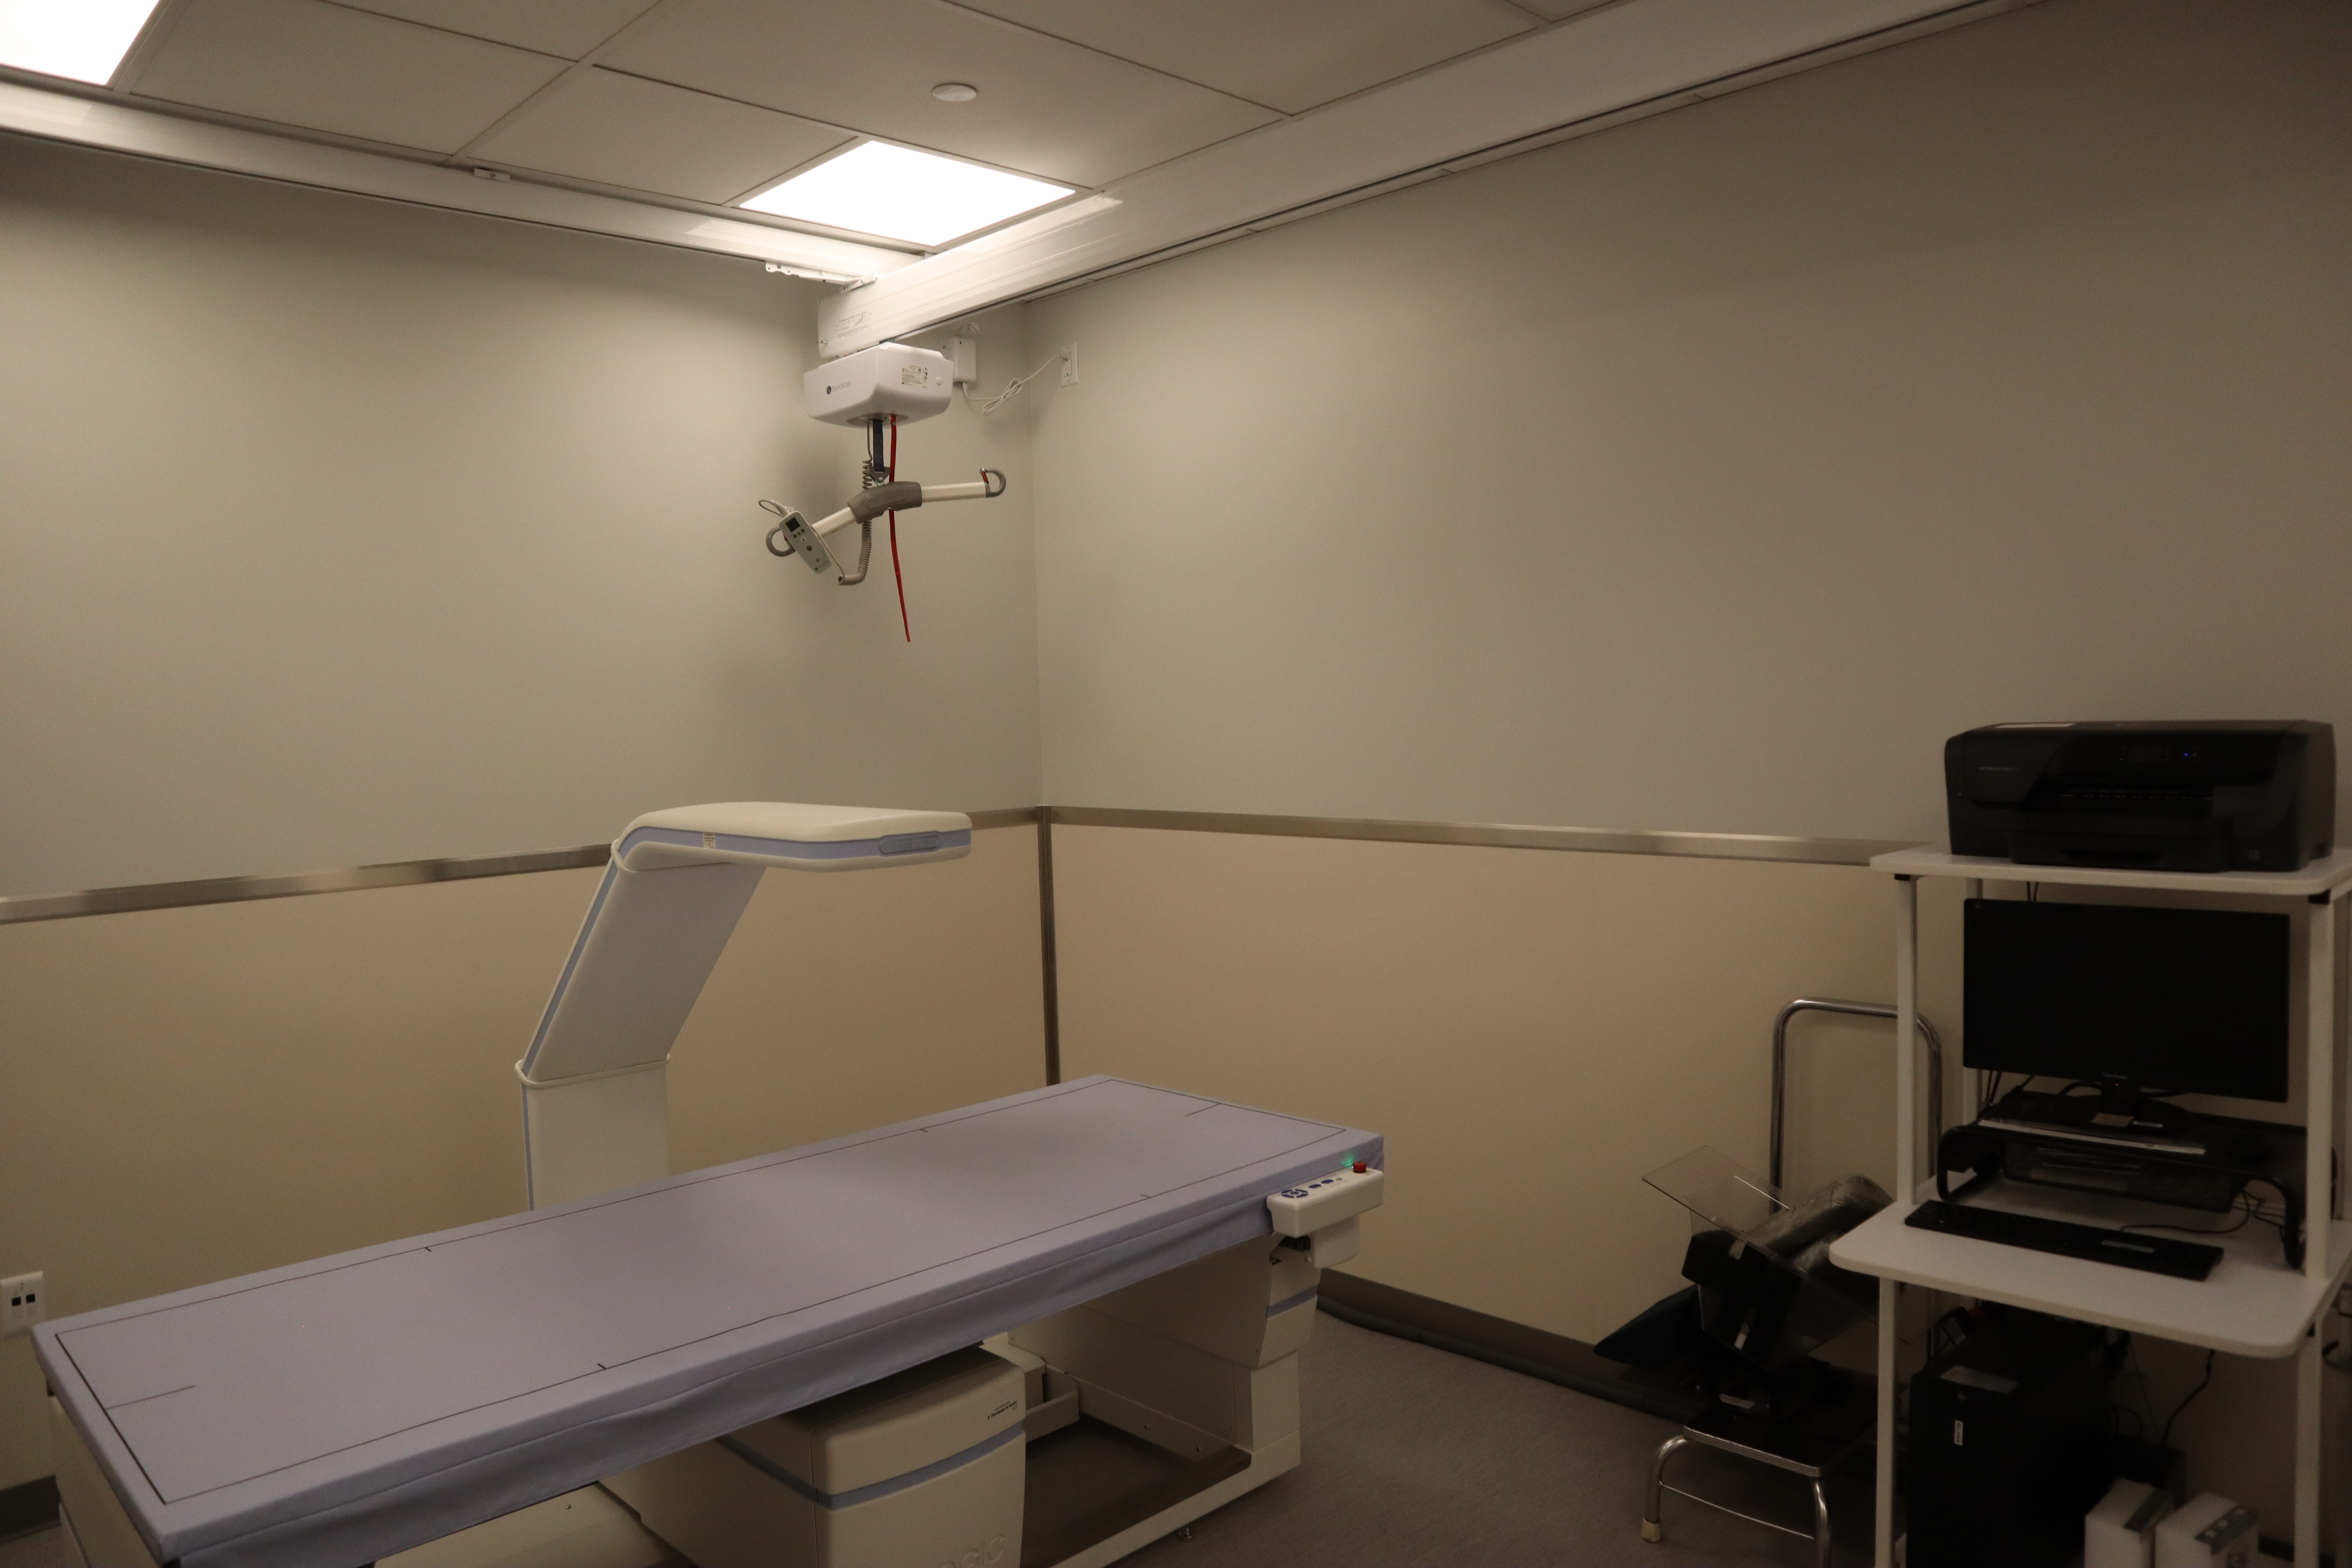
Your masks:
{"label": "white ceiling lift motor unit with its hanging spreader bar", "polygon": [[[802,376],[809,418],[828,425],[866,425],[866,468],[858,494],[842,510],[809,522],[793,508],[762,501],[776,515],[767,534],[771,555],[797,555],[809,571],[833,571],[849,588],[866,581],[873,555],[873,524],[884,512],[896,515],[929,501],[985,501],[1004,494],[1004,475],[983,468],[976,482],[915,484],[896,473],[896,428],[917,418],[946,414],[955,400],[955,362],[929,348],[877,343],[842,360],[818,364]],[[858,569],[842,571],[826,536],[858,524]],[[896,536],[894,536],[896,538]],[[894,545],[896,552],[896,545]]]}

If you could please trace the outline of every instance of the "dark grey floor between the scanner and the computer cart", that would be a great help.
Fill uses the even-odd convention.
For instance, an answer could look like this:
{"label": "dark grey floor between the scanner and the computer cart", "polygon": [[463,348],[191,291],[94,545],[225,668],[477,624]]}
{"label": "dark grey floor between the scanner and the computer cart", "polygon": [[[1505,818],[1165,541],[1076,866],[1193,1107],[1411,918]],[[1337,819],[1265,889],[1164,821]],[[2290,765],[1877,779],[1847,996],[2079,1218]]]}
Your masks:
{"label": "dark grey floor between the scanner and the computer cart", "polygon": [[[1324,1314],[1303,1363],[1305,1462],[1127,1561],[1136,1568],[1715,1568],[1811,1563],[1811,1547],[1665,1497],[1644,1544],[1649,1458],[1675,1425]],[[1802,1523],[1804,1483],[1684,1450],[1670,1481]],[[1837,1563],[1870,1561],[1867,1486],[1830,1493]],[[61,1568],[56,1533],[0,1568]]]}

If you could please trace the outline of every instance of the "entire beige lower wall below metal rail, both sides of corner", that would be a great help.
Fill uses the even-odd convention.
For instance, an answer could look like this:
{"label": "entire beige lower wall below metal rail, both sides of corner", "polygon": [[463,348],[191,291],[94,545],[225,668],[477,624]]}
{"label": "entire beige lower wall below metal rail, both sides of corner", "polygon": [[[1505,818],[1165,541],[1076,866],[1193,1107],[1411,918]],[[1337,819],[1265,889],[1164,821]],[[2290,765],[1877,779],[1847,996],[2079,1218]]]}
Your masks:
{"label": "entire beige lower wall below metal rail, both sides of corner", "polygon": [[[1028,827],[769,877],[670,1067],[677,1168],[1042,1081]],[[1762,1166],[1771,1018],[1891,997],[1856,867],[1056,827],[1063,1060],[1388,1135],[1371,1279],[1595,1340],[1679,1286],[1642,1173]],[[513,1058],[595,872],[0,926],[0,1274],[52,1312],[522,1206]],[[1957,1025],[1957,889],[1926,1006]],[[1957,1044],[1957,1030],[1955,1030]],[[1790,1185],[1891,1178],[1884,1025],[1792,1030]],[[2161,1422],[2199,1356],[2143,1347]],[[2223,1359],[2192,1481],[2284,1521],[2288,1363]],[[2136,1387],[2124,1389],[2126,1396]],[[0,1342],[0,1486],[49,1472]],[[2270,1526],[2274,1533],[2284,1526]]]}

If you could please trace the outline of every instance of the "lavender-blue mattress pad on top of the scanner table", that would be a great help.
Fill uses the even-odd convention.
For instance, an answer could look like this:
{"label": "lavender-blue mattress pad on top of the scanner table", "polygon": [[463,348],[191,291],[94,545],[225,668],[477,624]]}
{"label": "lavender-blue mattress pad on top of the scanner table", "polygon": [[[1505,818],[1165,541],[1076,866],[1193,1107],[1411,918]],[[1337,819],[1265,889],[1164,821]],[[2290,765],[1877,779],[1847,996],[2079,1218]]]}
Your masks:
{"label": "lavender-blue mattress pad on top of the scanner table", "polygon": [[1371,1133],[1080,1079],[35,1328],[158,1561],[353,1568],[1268,1234]]}

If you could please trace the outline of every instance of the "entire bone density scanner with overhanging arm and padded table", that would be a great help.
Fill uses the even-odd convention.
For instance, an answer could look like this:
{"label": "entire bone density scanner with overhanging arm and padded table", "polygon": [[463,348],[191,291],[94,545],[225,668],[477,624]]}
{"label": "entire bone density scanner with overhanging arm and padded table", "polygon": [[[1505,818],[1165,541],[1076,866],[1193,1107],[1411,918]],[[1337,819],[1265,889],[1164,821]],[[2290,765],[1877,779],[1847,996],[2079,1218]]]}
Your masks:
{"label": "entire bone density scanner with overhanging arm and padded table", "polygon": [[[1374,1133],[1091,1077],[668,1171],[668,1051],[760,875],[969,846],[637,818],[517,1063],[529,1213],[35,1331],[85,1561],[1084,1568],[1294,1467]],[[1082,1420],[1167,1474],[1047,1528],[1023,1455]]]}

